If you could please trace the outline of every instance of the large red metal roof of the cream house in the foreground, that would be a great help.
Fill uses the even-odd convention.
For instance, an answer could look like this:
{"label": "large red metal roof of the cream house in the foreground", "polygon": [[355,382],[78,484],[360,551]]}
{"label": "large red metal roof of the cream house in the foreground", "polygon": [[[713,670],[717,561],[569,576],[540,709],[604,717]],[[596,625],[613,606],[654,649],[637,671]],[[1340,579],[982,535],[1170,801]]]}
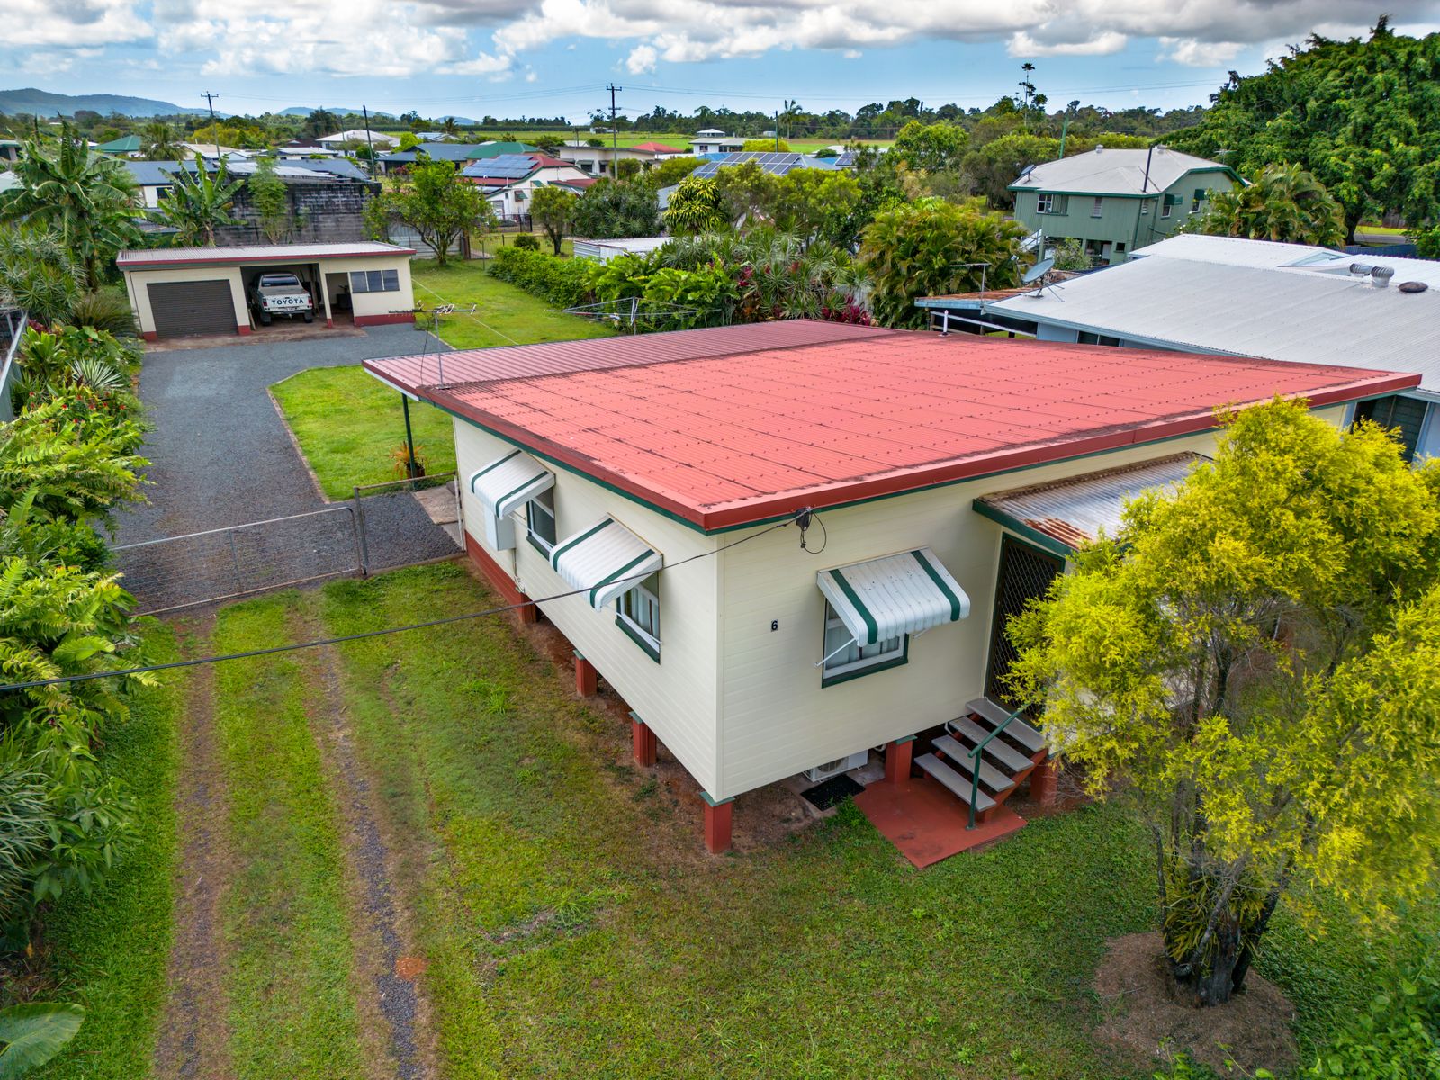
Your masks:
{"label": "large red metal roof of the cream house in the foreground", "polygon": [[806,321],[364,366],[701,528],[1200,432],[1221,405],[1333,405],[1420,382]]}

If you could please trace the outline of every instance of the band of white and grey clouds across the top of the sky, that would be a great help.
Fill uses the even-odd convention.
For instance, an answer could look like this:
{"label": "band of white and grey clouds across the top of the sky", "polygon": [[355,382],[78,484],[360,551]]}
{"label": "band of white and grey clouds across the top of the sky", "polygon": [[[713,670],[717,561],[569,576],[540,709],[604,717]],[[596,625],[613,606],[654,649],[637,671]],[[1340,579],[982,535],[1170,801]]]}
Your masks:
{"label": "band of white and grey clouds across the top of the sky", "polygon": [[[1400,29],[1440,20],[1440,0],[1387,7]],[[569,39],[628,48],[639,75],[772,50],[851,58],[945,39],[1004,42],[1017,58],[1106,56],[1159,37],[1161,60],[1214,66],[1312,29],[1362,32],[1356,17],[1355,0],[0,0],[0,56],[58,50],[63,63],[73,48],[147,40],[167,65],[206,73],[500,79],[524,71],[523,53]]]}

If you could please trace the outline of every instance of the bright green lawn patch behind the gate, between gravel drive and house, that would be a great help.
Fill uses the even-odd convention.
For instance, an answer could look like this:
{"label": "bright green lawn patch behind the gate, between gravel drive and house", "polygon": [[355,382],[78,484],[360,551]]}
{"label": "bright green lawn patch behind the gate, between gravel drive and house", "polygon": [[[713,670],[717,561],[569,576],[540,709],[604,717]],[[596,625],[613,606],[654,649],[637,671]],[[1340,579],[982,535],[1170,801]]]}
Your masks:
{"label": "bright green lawn patch behind the gate, between gravel drive and house", "polygon": [[[271,387],[325,498],[350,498],[356,485],[400,480],[392,454],[405,445],[400,395],[361,367],[311,367]],[[416,454],[429,472],[454,472],[451,418],[410,402]]]}

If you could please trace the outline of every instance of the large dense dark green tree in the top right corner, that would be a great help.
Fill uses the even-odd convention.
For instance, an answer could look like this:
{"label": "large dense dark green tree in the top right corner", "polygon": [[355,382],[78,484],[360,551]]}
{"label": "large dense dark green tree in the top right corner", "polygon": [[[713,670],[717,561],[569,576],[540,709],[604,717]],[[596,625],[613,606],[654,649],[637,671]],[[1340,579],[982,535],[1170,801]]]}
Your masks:
{"label": "large dense dark green tree in the top right corner", "polygon": [[[1231,72],[1214,108],[1174,145],[1240,173],[1295,164],[1339,200],[1345,236],[1395,210],[1440,217],[1440,35],[1404,37],[1381,19],[1368,40],[1312,36],[1263,75]],[[1223,156],[1223,157],[1221,157]]]}

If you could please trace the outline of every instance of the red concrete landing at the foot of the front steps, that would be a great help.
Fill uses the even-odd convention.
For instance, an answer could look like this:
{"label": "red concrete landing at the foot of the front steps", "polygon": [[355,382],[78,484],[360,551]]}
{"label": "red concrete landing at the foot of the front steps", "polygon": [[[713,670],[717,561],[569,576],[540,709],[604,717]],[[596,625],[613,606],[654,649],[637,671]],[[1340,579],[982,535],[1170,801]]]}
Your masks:
{"label": "red concrete landing at the foot of the front steps", "polygon": [[1025,824],[1015,811],[1001,805],[991,811],[989,821],[968,829],[965,804],[927,776],[904,783],[871,783],[855,796],[855,805],[919,868],[1008,837]]}

